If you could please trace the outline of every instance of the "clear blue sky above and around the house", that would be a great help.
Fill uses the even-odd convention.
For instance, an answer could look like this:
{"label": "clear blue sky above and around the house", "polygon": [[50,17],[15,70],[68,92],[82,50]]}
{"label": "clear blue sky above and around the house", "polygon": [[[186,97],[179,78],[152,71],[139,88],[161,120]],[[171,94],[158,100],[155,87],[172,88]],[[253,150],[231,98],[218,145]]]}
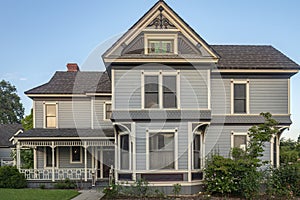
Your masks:
{"label": "clear blue sky above and around the house", "polygon": [[[209,44],[268,44],[300,63],[298,0],[166,0]],[[133,25],[156,0],[0,0],[0,79],[24,91],[47,82],[66,63],[95,70],[85,62],[103,42]],[[98,69],[98,68],[96,68]],[[99,70],[100,67],[99,67]],[[300,134],[300,74],[292,85],[293,125]]]}

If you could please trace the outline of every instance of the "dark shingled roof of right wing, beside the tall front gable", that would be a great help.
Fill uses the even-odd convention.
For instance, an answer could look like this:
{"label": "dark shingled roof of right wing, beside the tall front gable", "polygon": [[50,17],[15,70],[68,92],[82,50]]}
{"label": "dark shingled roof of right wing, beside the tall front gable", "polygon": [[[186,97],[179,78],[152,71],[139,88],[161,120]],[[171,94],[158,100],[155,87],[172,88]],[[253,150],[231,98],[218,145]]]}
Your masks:
{"label": "dark shingled roof of right wing, beside the tall front gable", "polygon": [[267,45],[212,45],[221,56],[218,69],[300,69],[300,66]]}

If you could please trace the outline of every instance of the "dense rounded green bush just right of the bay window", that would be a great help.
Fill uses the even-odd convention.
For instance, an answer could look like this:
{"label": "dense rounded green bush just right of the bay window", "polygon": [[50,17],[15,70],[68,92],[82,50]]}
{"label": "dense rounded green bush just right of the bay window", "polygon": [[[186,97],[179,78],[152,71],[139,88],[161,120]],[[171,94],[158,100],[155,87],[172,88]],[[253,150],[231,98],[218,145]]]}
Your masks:
{"label": "dense rounded green bush just right of the bay window", "polygon": [[[239,157],[239,156],[238,156]],[[256,160],[250,158],[224,158],[214,155],[205,169],[207,191],[220,195],[239,195],[255,198],[260,189],[261,172]]]}

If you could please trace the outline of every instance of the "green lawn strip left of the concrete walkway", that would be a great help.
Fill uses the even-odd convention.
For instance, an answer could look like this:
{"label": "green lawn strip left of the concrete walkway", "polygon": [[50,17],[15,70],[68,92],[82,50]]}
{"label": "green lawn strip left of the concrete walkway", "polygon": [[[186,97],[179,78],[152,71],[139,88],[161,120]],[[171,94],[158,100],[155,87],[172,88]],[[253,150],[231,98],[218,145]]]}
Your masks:
{"label": "green lawn strip left of the concrete walkway", "polygon": [[1,200],[69,200],[78,194],[79,193],[76,190],[0,188]]}

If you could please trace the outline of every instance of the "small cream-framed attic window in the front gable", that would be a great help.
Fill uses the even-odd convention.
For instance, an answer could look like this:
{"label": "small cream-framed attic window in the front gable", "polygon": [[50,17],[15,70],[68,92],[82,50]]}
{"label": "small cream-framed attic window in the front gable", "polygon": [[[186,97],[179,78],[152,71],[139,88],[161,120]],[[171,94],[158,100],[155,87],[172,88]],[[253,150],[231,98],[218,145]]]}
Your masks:
{"label": "small cream-framed attic window in the front gable", "polygon": [[145,34],[145,54],[177,54],[177,34]]}

